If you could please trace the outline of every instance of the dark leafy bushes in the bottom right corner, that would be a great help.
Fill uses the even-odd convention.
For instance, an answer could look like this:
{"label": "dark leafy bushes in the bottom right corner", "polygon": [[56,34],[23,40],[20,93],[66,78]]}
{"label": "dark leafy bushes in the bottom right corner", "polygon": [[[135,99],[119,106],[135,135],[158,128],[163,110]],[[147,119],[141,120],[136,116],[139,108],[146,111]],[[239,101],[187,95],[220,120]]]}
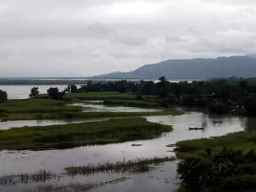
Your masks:
{"label": "dark leafy bushes in the bottom right corner", "polygon": [[189,191],[256,189],[256,153],[253,150],[243,154],[241,150],[223,148],[214,156],[211,150],[205,151],[208,154],[205,159],[188,157],[179,163],[177,172]]}

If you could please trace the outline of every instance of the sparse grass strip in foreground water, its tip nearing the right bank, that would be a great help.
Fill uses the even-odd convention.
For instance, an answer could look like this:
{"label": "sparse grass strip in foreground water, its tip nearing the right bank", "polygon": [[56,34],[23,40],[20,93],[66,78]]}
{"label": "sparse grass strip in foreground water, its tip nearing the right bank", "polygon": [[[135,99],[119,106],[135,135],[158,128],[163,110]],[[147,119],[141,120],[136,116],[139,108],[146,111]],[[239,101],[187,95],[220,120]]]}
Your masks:
{"label": "sparse grass strip in foreground water, its tip nearing the right bank", "polygon": [[87,166],[71,166],[65,168],[68,175],[90,175],[93,173],[141,173],[148,172],[150,165],[160,164],[166,161],[174,161],[175,157],[164,157],[164,158],[153,158],[153,159],[136,159],[130,161],[118,161],[116,163],[105,163],[105,164],[88,164]]}

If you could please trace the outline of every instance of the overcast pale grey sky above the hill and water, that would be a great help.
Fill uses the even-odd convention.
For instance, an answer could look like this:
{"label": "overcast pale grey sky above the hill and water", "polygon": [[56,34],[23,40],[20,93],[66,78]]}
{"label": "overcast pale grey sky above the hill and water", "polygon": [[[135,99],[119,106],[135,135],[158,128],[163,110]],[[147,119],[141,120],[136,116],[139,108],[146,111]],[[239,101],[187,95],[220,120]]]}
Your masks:
{"label": "overcast pale grey sky above the hill and water", "polygon": [[0,77],[256,52],[255,0],[1,0]]}

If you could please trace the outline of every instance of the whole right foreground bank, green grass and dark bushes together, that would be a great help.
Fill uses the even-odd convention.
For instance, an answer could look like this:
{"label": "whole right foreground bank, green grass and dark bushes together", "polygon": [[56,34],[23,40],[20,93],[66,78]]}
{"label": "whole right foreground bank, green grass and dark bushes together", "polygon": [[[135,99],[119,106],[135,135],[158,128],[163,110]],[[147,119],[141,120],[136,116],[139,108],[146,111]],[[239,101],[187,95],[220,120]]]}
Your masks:
{"label": "whole right foreground bank, green grass and dark bushes together", "polygon": [[256,132],[178,142],[180,191],[255,191],[255,149]]}

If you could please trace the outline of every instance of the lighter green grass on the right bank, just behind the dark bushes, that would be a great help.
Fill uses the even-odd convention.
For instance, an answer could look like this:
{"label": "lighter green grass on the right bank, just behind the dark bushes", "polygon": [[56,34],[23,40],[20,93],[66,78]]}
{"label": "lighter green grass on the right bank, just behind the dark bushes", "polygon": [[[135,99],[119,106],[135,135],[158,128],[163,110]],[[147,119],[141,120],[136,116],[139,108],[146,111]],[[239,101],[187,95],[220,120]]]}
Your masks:
{"label": "lighter green grass on the right bank, just behind the dark bushes", "polygon": [[211,148],[212,154],[220,152],[223,147],[243,150],[256,150],[256,132],[235,132],[212,139],[180,141],[177,143],[177,152],[180,156],[205,156],[205,148]]}

